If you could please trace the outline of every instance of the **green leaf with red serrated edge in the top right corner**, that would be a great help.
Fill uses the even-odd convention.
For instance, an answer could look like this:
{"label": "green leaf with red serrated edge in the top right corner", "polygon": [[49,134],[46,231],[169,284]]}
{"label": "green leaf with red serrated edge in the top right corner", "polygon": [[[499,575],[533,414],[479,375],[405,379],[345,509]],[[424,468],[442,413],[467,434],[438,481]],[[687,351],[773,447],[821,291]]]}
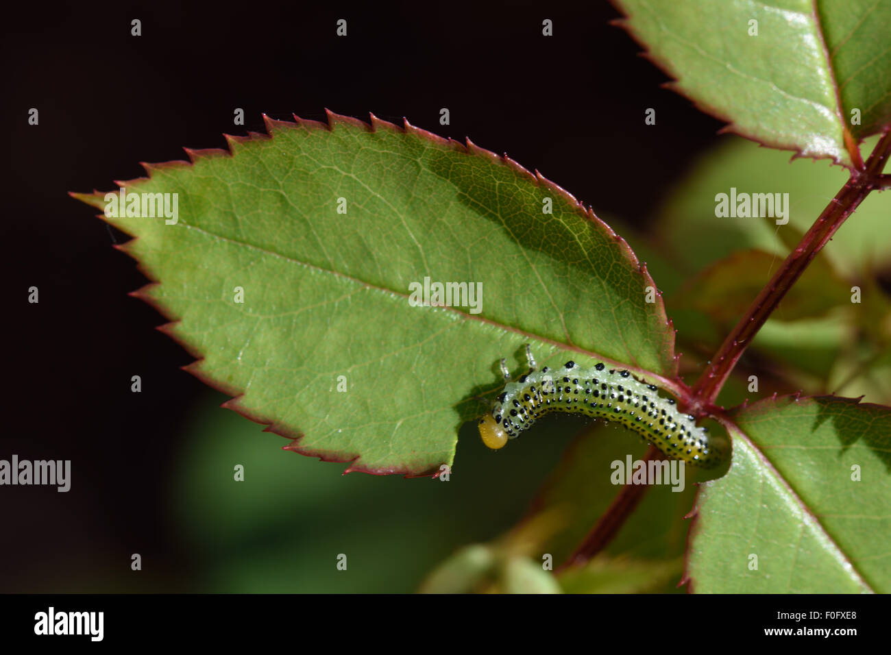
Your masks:
{"label": "green leaf with red serrated edge in the top right corner", "polygon": [[856,142],[891,119],[891,3],[617,4],[632,35],[676,80],[671,86],[728,121],[727,130],[853,167]]}

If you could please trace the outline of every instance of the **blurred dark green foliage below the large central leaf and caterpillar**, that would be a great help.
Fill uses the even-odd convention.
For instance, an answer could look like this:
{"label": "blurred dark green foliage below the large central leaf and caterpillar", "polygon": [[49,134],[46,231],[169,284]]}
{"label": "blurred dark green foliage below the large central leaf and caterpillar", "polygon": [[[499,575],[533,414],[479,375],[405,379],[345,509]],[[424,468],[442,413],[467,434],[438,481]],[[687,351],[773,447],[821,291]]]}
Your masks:
{"label": "blurred dark green foliage below the large central leaf and caterpillar", "polygon": [[491,451],[469,423],[447,482],[344,476],[347,464],[282,451],[286,439],[220,409],[223,400],[208,393],[196,406],[170,498],[195,592],[417,591],[440,561],[519,520],[581,425],[547,417],[531,438]]}

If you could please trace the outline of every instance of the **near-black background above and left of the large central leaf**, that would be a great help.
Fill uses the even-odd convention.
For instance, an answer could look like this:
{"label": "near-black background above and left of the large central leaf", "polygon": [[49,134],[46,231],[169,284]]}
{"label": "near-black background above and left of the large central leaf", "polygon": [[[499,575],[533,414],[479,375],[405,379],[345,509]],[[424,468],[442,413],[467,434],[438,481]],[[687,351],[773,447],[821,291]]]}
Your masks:
{"label": "near-black background above and left of the large central leaf", "polygon": [[[145,280],[111,248],[126,237],[69,191],[108,191],[142,176],[139,161],[185,159],[184,146],[225,148],[224,133],[264,131],[262,113],[323,120],[328,108],[469,136],[608,221],[645,226],[721,125],[660,87],[666,76],[609,25],[618,13],[606,2],[14,3],[4,12],[0,458],[70,459],[74,472],[68,494],[0,487],[3,592],[206,590],[200,553],[171,518],[170,488],[184,426],[208,397],[225,397],[178,369],[191,357],[153,330],[160,315],[127,297]],[[141,37],[130,36],[134,18]],[[345,38],[335,35],[339,18]],[[553,37],[542,36],[545,18]],[[244,127],[233,126],[236,107]],[[439,125],[442,107],[449,126]],[[656,126],[644,125],[648,107]],[[130,391],[136,373],[141,394]],[[295,457],[235,420],[252,447]],[[155,574],[127,577],[134,552]]]}

